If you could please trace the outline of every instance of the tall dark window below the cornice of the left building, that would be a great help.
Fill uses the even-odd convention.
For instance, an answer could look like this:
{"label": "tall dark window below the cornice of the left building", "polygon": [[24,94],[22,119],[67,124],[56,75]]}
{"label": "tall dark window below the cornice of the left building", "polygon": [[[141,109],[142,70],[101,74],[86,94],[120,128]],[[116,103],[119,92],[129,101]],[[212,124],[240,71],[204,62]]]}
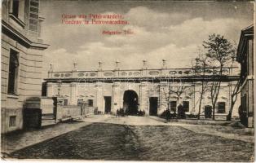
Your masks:
{"label": "tall dark window below the cornice of the left building", "polygon": [[17,95],[17,80],[19,71],[19,53],[11,49],[8,76],[8,94]]}

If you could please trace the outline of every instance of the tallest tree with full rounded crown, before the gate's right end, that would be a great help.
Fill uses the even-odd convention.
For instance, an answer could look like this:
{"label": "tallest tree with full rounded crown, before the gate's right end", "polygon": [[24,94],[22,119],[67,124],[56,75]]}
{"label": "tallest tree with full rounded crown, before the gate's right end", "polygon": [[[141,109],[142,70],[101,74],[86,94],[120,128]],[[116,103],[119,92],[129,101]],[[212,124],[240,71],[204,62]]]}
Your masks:
{"label": "tallest tree with full rounded crown, before the gate's right end", "polygon": [[212,34],[209,39],[203,42],[206,56],[209,57],[210,64],[214,67],[213,81],[211,81],[210,97],[213,105],[213,120],[215,118],[215,108],[218,100],[220,84],[223,77],[223,68],[232,60],[235,55],[235,48],[231,42],[219,34]]}

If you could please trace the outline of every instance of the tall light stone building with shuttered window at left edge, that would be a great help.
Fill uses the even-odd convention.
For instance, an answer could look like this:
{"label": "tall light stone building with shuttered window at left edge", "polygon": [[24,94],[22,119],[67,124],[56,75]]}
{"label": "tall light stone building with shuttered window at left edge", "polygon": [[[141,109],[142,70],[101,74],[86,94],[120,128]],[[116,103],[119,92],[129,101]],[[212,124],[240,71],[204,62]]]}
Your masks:
{"label": "tall light stone building with shuttered window at left edge", "polygon": [[1,133],[23,128],[26,99],[41,96],[43,18],[39,0],[2,1]]}

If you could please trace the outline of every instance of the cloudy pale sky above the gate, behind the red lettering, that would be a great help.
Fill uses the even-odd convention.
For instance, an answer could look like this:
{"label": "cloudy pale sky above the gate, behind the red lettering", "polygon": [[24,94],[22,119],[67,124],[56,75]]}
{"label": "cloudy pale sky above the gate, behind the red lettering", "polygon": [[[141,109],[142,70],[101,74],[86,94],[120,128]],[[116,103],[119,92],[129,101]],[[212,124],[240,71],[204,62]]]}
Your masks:
{"label": "cloudy pale sky above the gate, behind the red lettering", "polygon": [[[117,0],[43,0],[40,15],[44,51],[44,72],[103,69],[189,68],[203,41],[218,33],[239,42],[241,29],[253,24],[252,2],[170,2]],[[62,15],[120,14],[129,24],[62,24]],[[107,35],[103,30],[130,29],[134,34]],[[46,73],[44,74],[46,75]]]}

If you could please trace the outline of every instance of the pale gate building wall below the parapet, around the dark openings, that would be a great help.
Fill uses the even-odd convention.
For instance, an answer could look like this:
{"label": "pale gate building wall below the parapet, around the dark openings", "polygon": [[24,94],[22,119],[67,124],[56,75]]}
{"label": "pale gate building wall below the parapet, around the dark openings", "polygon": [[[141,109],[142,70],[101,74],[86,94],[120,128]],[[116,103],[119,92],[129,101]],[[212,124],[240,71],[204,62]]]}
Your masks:
{"label": "pale gate building wall below the parapet, around the dark openings", "polygon": [[[234,83],[233,83],[234,84]],[[98,108],[99,111],[104,113],[104,96],[111,96],[111,112],[117,112],[118,108],[123,108],[123,98],[126,90],[133,90],[139,97],[139,109],[144,110],[146,115],[149,115],[149,98],[157,97],[158,106],[157,114],[161,115],[162,112],[168,107],[166,99],[166,92],[169,91],[169,88],[177,89],[180,86],[179,82],[166,82],[161,81],[157,83],[152,83],[149,81],[142,81],[140,83],[135,82],[120,82],[116,81],[113,83],[104,83],[104,82],[94,82],[94,83],[80,83],[75,86],[76,92],[74,93],[75,97],[70,97],[70,85],[71,83],[63,83],[60,86],[60,95],[68,99],[68,104],[75,104],[77,99],[82,99],[87,102],[89,99],[93,100],[93,107]],[[51,92],[48,95],[57,95],[58,84],[56,83],[47,83],[48,90],[47,93]],[[183,90],[183,93],[180,95],[179,100],[177,95],[172,94],[169,97],[170,101],[177,101],[177,106],[183,104],[183,101],[188,101],[189,103],[189,112],[187,114],[198,114],[199,109],[199,99],[201,95],[201,83],[184,83],[186,87]],[[232,85],[233,86],[233,85]],[[218,95],[218,102],[225,102],[225,112],[218,113],[215,109],[216,119],[225,120],[227,113],[230,108],[230,95],[232,90],[231,83],[223,82],[221,89]],[[238,97],[239,99],[239,97]],[[205,106],[212,105],[210,99],[210,91],[207,91],[203,95],[201,103],[201,116],[204,117]],[[240,101],[237,100],[233,110],[233,117],[238,117],[238,107]],[[218,105],[216,106],[218,107]]]}

